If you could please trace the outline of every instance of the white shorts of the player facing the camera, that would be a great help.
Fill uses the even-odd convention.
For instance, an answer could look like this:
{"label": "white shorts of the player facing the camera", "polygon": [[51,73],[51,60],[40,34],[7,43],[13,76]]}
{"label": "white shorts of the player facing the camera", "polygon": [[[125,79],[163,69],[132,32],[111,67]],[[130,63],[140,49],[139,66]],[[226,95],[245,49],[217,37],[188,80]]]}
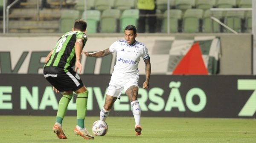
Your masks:
{"label": "white shorts of the player facing the camera", "polygon": [[120,99],[122,89],[126,91],[131,86],[139,87],[138,82],[139,82],[139,77],[134,77],[134,78],[125,79],[125,80],[111,77],[107,94]]}

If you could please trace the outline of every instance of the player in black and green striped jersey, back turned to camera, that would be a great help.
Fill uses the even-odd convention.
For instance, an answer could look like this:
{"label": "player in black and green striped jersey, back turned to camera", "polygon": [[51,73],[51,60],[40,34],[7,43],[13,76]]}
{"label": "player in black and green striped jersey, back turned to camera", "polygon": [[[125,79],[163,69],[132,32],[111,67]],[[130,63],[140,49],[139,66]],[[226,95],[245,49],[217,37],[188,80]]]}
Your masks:
{"label": "player in black and green striped jersey, back turned to camera", "polygon": [[[94,139],[84,127],[88,91],[79,75],[76,74],[77,69],[79,69],[80,74],[82,70],[80,57],[87,41],[87,36],[84,33],[86,27],[87,23],[84,20],[76,20],[72,31],[61,36],[45,60],[44,77],[52,84],[53,90],[61,92],[63,95],[59,101],[56,123],[53,126],[54,133],[60,139],[67,139],[62,130],[62,120],[73,97],[73,92],[77,94],[77,126],[74,132],[84,139]],[[73,66],[75,66],[75,71],[72,69]]]}

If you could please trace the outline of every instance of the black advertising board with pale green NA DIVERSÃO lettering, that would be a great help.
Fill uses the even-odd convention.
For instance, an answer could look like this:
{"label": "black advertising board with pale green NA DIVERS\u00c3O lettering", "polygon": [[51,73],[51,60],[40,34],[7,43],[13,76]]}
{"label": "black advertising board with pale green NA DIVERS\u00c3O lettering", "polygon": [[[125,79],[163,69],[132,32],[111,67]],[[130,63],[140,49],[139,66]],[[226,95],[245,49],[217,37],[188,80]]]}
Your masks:
{"label": "black advertising board with pale green NA DIVERS\u00c3O lettering", "polygon": [[[87,115],[99,116],[111,75],[80,75],[89,91]],[[42,74],[0,74],[0,115],[53,115],[60,93]],[[142,87],[145,76],[140,76]],[[256,117],[256,76],[152,75],[150,88],[139,89],[144,117]],[[76,116],[76,95],[67,115]],[[110,116],[133,116],[124,92]]]}

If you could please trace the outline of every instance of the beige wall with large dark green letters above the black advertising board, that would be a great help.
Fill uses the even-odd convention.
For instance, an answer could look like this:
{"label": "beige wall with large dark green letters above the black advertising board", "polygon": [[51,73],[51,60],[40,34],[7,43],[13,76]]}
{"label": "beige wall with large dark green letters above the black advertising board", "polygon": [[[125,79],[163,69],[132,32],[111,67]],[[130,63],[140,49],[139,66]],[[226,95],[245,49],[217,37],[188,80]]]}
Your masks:
{"label": "beige wall with large dark green letters above the black advertising board", "polygon": [[[0,37],[0,74],[42,74],[44,58],[55,46],[60,35]],[[107,49],[113,42],[123,39],[122,34],[88,35],[84,48],[86,51]],[[193,42],[220,39],[217,55],[218,74],[251,75],[252,74],[252,35],[251,34],[139,34],[137,40],[145,43],[151,56],[152,74],[172,74],[169,68],[170,55],[174,48],[186,49]],[[176,45],[173,46],[173,45]],[[203,55],[204,60],[207,55]],[[84,74],[111,74],[115,55],[93,59],[81,57]],[[111,60],[112,59],[112,60]],[[175,60],[175,59],[174,59]],[[176,59],[177,60],[177,59]],[[204,61],[205,62],[205,61]],[[206,62],[205,62],[206,63]],[[145,74],[144,63],[139,64],[140,74]]]}

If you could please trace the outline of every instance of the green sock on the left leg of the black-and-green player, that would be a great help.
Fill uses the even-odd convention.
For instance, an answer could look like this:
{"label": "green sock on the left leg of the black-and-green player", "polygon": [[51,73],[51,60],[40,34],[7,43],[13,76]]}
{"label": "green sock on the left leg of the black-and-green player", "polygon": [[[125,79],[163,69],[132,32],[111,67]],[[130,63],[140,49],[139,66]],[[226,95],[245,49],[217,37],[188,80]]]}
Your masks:
{"label": "green sock on the left leg of the black-and-green player", "polygon": [[66,114],[67,111],[67,106],[70,100],[72,99],[72,95],[63,95],[61,97],[61,100],[58,105],[58,112],[57,112],[57,117],[56,117],[56,122],[62,124],[62,120]]}

